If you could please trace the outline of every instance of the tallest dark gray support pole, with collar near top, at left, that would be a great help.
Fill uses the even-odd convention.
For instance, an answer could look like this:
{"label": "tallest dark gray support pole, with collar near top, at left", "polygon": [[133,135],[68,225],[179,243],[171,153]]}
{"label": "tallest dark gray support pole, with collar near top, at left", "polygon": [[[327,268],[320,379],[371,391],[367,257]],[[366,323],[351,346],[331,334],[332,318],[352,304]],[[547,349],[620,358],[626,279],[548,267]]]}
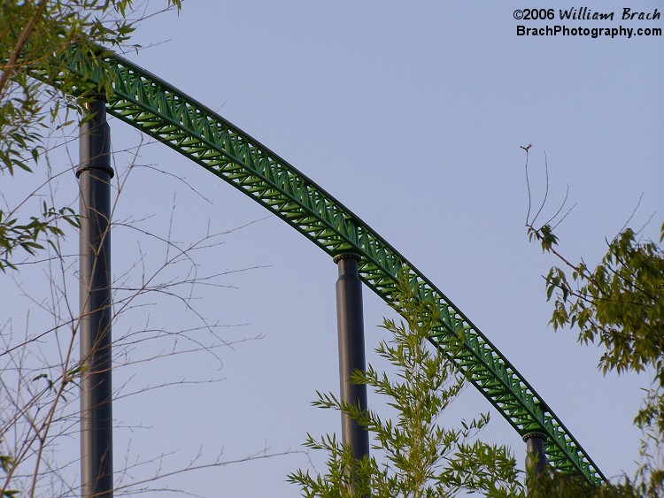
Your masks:
{"label": "tallest dark gray support pole, with collar near top, at left", "polygon": [[104,102],[83,104],[81,215],[81,496],[112,498],[111,131]]}

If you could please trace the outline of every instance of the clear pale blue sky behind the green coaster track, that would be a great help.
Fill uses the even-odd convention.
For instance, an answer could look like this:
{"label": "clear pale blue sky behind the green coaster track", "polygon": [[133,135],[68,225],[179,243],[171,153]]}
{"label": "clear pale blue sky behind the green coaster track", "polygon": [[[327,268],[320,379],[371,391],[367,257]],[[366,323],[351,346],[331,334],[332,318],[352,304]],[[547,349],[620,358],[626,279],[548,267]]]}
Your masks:
{"label": "clear pale blue sky behind the green coaster track", "polygon": [[[645,225],[642,234],[654,239],[664,221],[664,38],[516,34],[518,25],[547,23],[517,21],[515,9],[553,8],[558,17],[559,9],[583,6],[614,11],[615,19],[548,24],[664,28],[662,19],[621,20],[623,7],[662,11],[662,2],[649,0],[201,0],[184,2],[179,16],[143,22],[135,41],[160,43],[127,57],[219,110],[374,227],[483,330],[599,468],[616,476],[635,468],[639,434],[631,420],[647,378],[603,378],[597,350],[547,325],[551,304],[541,275],[556,262],[526,237],[520,146],[532,143],[534,201],[544,195],[544,153],[548,158],[551,203],[544,211],[558,209],[567,184],[570,205],[578,203],[558,229],[568,257],[597,263],[605,238],[618,233],[639,199],[630,226]],[[122,150],[141,138],[117,120],[112,136],[122,172],[132,159]],[[199,274],[261,268],[220,280],[236,288],[198,288],[195,303],[212,322],[247,324],[222,330],[222,338],[262,338],[220,349],[221,369],[206,354],[120,369],[116,386],[135,374],[134,389],[182,378],[222,380],[117,402],[120,425],[150,428],[116,431],[116,467],[126,455],[135,461],[175,452],[163,468],[177,469],[199,448],[198,464],[221,451],[224,460],[266,446],[278,453],[302,449],[307,432],[337,431],[336,413],[310,407],[317,389],[338,390],[336,265],[248,197],[147,142],[136,163],[155,169],[129,175],[117,218],[145,218],[139,226],[162,236],[172,218],[173,239],[183,243],[205,235],[208,225],[220,232],[259,220],[201,251],[197,264]],[[60,187],[75,192],[73,176]],[[113,233],[118,279],[139,250],[149,268],[164,259],[164,249],[150,241],[139,247],[137,237],[122,227]],[[132,279],[140,280],[140,267],[135,271]],[[370,350],[384,337],[375,326],[389,310],[367,288],[364,298]],[[151,302],[120,318],[114,333],[143,327],[148,315],[151,326],[198,325],[176,300]],[[164,346],[154,344],[136,349],[134,359],[160,354]],[[369,361],[379,364],[375,355]],[[491,410],[489,402],[469,387],[450,418],[481,410]],[[525,457],[525,445],[497,412],[483,437],[511,445],[520,462]],[[313,464],[322,470],[320,456],[297,453],[180,474],[158,486],[203,496],[290,497],[298,490],[286,474]],[[145,465],[125,479],[153,471]]]}

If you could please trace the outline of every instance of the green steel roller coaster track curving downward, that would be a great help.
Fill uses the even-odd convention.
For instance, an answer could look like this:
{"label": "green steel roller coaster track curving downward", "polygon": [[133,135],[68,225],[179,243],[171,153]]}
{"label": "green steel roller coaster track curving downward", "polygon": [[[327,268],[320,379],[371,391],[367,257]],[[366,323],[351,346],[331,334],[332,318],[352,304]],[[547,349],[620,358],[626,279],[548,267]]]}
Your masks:
{"label": "green steel roller coaster track curving downward", "polygon": [[459,370],[517,433],[544,435],[544,451],[555,469],[579,473],[596,484],[606,480],[560,418],[480,329],[332,195],[216,112],[122,57],[108,55],[93,63],[73,50],[66,67],[89,85],[110,78],[109,113],[249,195],[330,257],[359,255],[360,279],[387,303],[392,303],[398,273],[408,267],[421,298],[436,303],[441,312],[430,341],[451,354]]}

